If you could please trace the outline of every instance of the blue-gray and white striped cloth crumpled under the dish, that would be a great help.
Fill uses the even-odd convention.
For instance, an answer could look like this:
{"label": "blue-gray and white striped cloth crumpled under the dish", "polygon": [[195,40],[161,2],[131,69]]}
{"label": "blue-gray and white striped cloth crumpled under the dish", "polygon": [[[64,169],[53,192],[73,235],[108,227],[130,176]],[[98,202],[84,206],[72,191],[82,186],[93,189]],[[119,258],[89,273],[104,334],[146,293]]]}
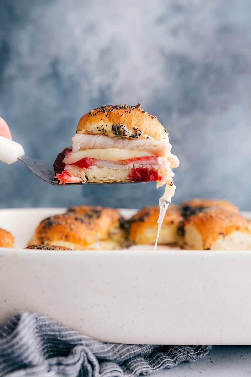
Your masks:
{"label": "blue-gray and white striped cloth crumpled under the dish", "polygon": [[102,343],[35,313],[0,329],[0,376],[136,377],[196,361],[210,346]]}

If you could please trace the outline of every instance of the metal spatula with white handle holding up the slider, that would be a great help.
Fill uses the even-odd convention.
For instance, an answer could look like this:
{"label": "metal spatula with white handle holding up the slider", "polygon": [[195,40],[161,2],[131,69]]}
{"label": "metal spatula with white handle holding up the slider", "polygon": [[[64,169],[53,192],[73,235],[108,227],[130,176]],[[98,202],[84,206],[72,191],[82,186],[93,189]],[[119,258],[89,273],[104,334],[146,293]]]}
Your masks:
{"label": "metal spatula with white handle holding up the slider", "polygon": [[[34,160],[27,157],[24,154],[24,149],[21,144],[16,143],[15,141],[9,140],[0,136],[0,161],[6,162],[6,164],[13,164],[17,160],[24,162],[27,169],[30,170],[35,176],[43,181],[50,183],[54,186],[63,186],[59,185],[59,182],[54,179],[55,173],[53,167],[47,162],[41,160]],[[125,184],[131,182],[109,182],[109,183],[93,183],[87,182],[88,184]],[[67,183],[66,185],[82,185],[83,183]]]}

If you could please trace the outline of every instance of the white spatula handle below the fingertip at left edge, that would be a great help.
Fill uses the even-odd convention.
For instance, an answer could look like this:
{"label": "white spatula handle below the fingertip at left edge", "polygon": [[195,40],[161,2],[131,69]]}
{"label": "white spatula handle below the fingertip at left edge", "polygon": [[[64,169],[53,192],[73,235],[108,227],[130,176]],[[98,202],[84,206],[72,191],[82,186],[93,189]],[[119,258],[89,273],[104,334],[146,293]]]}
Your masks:
{"label": "white spatula handle below the fingertip at left edge", "polygon": [[6,162],[6,164],[13,164],[18,157],[23,155],[24,149],[21,144],[0,136],[0,161]]}

